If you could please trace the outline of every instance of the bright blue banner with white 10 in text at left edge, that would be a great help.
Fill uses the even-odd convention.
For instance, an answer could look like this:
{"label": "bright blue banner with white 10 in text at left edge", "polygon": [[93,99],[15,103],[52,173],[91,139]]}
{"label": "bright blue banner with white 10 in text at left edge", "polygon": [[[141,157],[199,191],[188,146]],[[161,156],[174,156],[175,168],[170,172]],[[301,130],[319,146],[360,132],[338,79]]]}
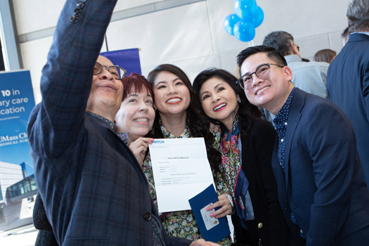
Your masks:
{"label": "bright blue banner with white 10 in text at left edge", "polygon": [[20,164],[33,174],[27,122],[34,108],[29,70],[0,72],[0,162]]}

